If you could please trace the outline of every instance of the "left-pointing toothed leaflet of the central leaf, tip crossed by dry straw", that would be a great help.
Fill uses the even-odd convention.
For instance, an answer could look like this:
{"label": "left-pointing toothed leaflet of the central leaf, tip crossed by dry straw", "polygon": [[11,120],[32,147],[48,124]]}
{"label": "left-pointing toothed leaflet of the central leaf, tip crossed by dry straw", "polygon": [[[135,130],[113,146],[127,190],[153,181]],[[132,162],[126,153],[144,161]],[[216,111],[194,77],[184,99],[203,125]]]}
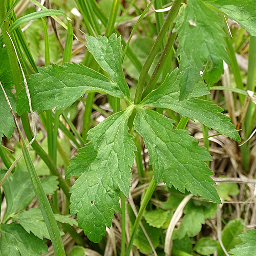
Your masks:
{"label": "left-pointing toothed leaflet of the central leaf, tip crossed by dry straw", "polygon": [[[39,113],[53,108],[66,109],[89,91],[126,98],[117,83],[82,64],[64,63],[63,66],[41,67],[38,71],[27,82],[32,109]],[[19,115],[29,110],[25,89],[18,94],[17,110]]]}

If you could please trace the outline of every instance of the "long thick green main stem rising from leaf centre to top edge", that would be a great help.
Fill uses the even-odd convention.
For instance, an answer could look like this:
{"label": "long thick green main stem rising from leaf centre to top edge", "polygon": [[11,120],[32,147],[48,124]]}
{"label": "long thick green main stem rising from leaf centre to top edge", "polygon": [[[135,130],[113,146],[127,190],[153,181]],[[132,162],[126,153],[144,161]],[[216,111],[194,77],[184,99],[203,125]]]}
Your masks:
{"label": "long thick green main stem rising from leaf centre to top edge", "polygon": [[135,93],[135,100],[134,103],[138,104],[141,101],[141,97],[142,97],[142,92],[143,92],[143,88],[144,88],[144,83],[146,80],[146,76],[148,73],[148,70],[150,70],[150,67],[158,53],[158,50],[160,49],[161,45],[162,45],[162,41],[163,38],[167,32],[167,29],[169,28],[170,24],[172,24],[174,22],[174,19],[180,9],[180,5],[181,5],[182,0],[175,0],[172,6],[172,9],[169,10],[169,13],[166,17],[166,20],[157,36],[157,39],[155,41],[155,44],[153,45],[150,54],[147,56],[147,59],[144,63],[144,66],[142,67],[140,76],[139,76],[139,80],[138,80],[138,85],[137,85],[137,90]]}

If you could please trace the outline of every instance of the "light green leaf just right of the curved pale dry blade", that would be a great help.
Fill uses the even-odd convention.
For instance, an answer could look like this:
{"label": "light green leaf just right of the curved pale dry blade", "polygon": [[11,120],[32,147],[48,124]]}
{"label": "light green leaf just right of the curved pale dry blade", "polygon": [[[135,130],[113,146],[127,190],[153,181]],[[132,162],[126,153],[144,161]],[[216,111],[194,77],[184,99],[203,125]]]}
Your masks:
{"label": "light green leaf just right of the curved pale dry blade", "polygon": [[186,234],[188,237],[195,237],[201,231],[204,220],[202,207],[191,205],[183,217],[180,228],[173,233],[172,239],[182,239]]}

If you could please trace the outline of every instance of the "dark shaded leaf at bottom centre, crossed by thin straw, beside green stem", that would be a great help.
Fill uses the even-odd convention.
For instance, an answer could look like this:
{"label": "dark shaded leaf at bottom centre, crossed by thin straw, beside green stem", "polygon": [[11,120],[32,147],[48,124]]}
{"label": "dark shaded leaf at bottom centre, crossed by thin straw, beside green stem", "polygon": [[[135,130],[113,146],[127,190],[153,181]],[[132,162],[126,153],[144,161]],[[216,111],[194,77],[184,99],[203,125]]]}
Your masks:
{"label": "dark shaded leaf at bottom centre, crossed by thin straw, beside green stem", "polygon": [[[135,222],[135,215],[130,205],[128,205],[128,212],[129,212],[129,222],[130,222],[130,232],[132,233],[133,225]],[[144,220],[141,221],[146,233],[148,234],[148,237],[150,238],[154,248],[156,248],[160,243],[160,236],[162,233],[162,230],[160,228],[152,227],[148,225]],[[135,234],[133,245],[135,245],[141,253],[149,254],[152,253],[153,250],[150,246],[150,243],[148,242],[141,226],[138,227],[137,232]]]}

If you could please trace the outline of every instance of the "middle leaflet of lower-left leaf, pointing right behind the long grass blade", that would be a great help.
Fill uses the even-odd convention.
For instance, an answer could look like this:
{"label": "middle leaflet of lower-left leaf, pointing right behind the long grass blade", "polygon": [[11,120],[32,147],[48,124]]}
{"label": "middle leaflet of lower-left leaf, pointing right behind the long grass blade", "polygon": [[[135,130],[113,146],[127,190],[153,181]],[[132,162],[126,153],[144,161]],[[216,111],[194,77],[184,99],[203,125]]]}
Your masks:
{"label": "middle leaflet of lower-left leaf, pointing right behind the long grass blade", "polygon": [[[58,222],[67,223],[71,226],[77,225],[77,222],[68,216],[55,214],[54,217]],[[42,217],[41,210],[38,208],[20,211],[17,215],[12,217],[12,220],[19,222],[28,233],[31,231],[40,239],[43,237],[51,239],[44,218]],[[64,232],[60,230],[60,234],[63,236]]]}

